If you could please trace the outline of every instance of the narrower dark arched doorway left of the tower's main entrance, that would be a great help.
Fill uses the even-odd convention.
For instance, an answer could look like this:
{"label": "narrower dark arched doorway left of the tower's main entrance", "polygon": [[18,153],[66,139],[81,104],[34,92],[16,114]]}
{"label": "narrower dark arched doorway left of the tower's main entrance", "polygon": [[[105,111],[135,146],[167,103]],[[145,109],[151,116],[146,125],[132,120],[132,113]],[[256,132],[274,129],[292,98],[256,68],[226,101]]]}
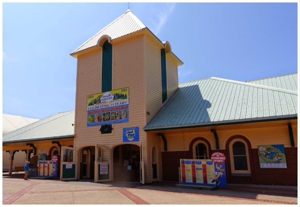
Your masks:
{"label": "narrower dark arched doorway left of the tower's main entrance", "polygon": [[95,177],[95,147],[89,146],[80,151],[80,179]]}

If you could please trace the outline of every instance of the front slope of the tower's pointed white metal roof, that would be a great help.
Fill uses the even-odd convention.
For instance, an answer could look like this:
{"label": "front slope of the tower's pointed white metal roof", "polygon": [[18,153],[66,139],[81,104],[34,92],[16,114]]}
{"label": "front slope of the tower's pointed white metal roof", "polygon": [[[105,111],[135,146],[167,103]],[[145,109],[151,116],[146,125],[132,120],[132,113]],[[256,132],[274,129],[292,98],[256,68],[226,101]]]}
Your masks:
{"label": "front slope of the tower's pointed white metal roof", "polygon": [[88,49],[90,47],[96,46],[97,41],[102,35],[108,35],[111,37],[111,40],[117,39],[121,36],[133,33],[138,30],[142,30],[146,26],[128,9],[118,17],[115,21],[110,23],[108,26],[100,30],[94,36],[92,36],[88,41],[79,46],[74,50],[72,54],[78,53],[82,50]]}

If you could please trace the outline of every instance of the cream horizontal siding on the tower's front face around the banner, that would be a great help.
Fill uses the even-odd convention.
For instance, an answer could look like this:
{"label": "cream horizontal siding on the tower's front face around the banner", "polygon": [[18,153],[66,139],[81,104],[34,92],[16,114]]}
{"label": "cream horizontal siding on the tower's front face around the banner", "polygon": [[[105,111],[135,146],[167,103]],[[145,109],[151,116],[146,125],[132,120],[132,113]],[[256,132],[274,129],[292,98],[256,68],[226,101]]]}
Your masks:
{"label": "cream horizontal siding on the tower's front face around the banner", "polygon": [[[87,96],[101,91],[101,50],[78,58],[75,148],[95,144],[113,147],[123,143],[123,128],[139,126],[140,141],[146,138],[142,36],[113,45],[113,89],[129,87],[129,122],[113,124],[112,134],[100,126],[87,127]],[[89,74],[89,75],[88,75]]]}

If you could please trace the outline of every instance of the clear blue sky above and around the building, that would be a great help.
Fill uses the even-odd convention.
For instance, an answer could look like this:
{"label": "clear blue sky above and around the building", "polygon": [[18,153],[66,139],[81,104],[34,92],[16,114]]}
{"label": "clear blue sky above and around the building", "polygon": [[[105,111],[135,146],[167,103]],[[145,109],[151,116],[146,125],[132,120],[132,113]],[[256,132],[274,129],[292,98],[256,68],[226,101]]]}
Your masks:
{"label": "clear blue sky above and around the building", "polygon": [[[3,3],[2,110],[45,118],[75,109],[69,54],[128,3]],[[297,3],[130,3],[183,61],[179,82],[247,81],[298,71]]]}

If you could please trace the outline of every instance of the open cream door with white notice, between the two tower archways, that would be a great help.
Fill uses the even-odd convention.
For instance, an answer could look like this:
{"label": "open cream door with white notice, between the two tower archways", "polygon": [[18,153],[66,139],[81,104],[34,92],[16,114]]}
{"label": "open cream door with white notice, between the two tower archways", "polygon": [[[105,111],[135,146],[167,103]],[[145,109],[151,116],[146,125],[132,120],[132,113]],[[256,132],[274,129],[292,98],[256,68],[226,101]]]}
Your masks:
{"label": "open cream door with white notice, between the two tower archways", "polygon": [[111,176],[111,166],[110,165],[110,159],[106,159],[106,161],[103,161],[103,153],[110,154],[109,148],[106,147],[100,147],[96,144],[95,146],[95,178],[94,182],[103,182],[103,181],[110,181]]}

